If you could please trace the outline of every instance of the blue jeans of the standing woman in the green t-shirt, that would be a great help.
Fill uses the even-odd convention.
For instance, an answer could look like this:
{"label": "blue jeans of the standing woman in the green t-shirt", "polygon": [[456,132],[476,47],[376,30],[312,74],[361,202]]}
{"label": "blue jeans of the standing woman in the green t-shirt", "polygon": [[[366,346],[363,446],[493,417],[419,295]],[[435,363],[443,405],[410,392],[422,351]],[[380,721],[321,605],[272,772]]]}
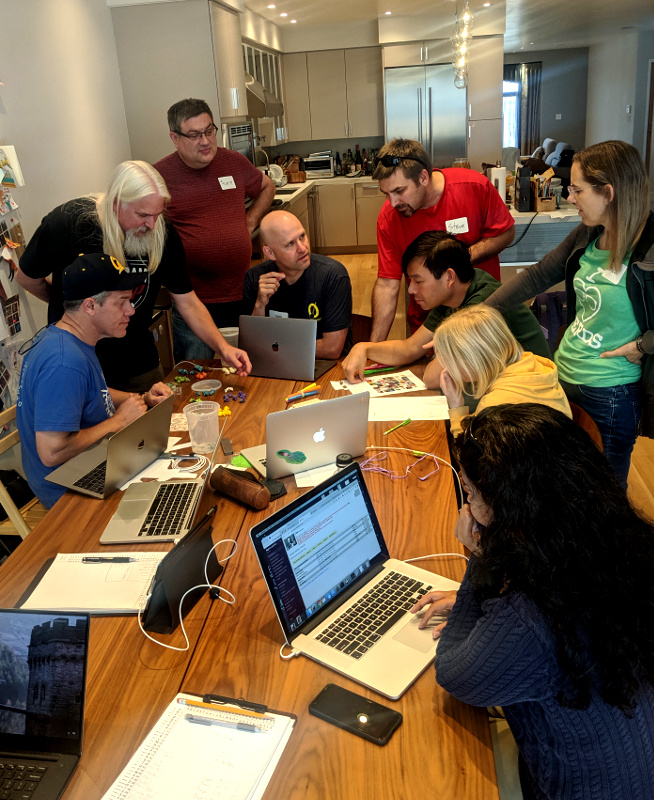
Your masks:
{"label": "blue jeans of the standing woman in the green t-shirt", "polygon": [[561,381],[561,386],[568,400],[593,418],[602,435],[604,455],[626,489],[631,451],[638,436],[640,384],[582,386]]}

